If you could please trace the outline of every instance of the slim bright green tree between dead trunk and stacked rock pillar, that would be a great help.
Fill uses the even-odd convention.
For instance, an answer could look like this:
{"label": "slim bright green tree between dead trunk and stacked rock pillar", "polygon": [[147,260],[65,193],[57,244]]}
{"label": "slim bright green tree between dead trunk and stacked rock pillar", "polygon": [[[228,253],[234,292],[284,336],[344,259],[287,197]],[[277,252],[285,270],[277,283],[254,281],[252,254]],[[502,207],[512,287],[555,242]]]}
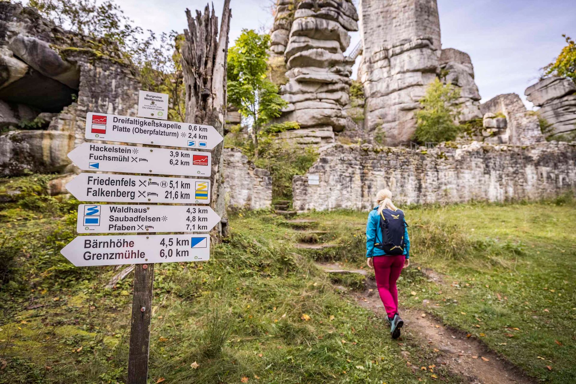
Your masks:
{"label": "slim bright green tree between dead trunk and stacked rock pillar", "polygon": [[252,121],[252,142],[258,156],[260,128],[287,105],[266,76],[270,36],[243,29],[228,50],[228,102]]}

